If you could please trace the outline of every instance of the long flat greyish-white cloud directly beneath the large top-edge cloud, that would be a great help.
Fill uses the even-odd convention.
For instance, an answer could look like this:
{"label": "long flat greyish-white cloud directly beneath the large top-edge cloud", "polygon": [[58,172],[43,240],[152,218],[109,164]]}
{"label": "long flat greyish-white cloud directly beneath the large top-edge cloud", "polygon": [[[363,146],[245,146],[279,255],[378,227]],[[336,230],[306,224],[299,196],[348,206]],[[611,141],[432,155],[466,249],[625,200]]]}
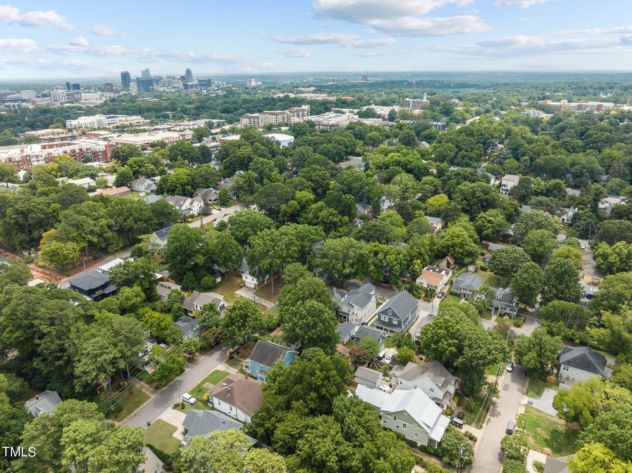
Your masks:
{"label": "long flat greyish-white cloud directly beneath the large top-edge cloud", "polygon": [[478,16],[461,15],[447,18],[398,18],[397,20],[374,20],[373,28],[394,36],[431,37],[482,33],[493,28]]}

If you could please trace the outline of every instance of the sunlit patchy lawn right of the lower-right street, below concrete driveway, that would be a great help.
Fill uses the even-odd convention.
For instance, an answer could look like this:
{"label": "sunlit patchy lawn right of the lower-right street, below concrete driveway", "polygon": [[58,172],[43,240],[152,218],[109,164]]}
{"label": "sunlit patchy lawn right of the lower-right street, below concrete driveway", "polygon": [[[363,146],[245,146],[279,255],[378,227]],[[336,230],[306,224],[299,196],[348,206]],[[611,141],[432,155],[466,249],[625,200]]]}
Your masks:
{"label": "sunlit patchy lawn right of the lower-right street, below concrete driveway", "polygon": [[525,434],[530,437],[530,444],[545,450],[545,453],[550,452],[554,457],[564,457],[575,452],[575,442],[580,431],[561,419],[526,406],[525,413],[518,416],[516,430],[522,429],[523,425]]}

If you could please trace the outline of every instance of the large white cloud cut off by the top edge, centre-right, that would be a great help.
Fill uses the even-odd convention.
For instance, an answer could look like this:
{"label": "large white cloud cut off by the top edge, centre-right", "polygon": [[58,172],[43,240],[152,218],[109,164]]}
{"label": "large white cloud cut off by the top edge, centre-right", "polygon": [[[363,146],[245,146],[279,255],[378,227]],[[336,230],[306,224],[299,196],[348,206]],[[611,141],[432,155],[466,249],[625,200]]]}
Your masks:
{"label": "large white cloud cut off by the top edge, centre-right", "polygon": [[447,4],[466,6],[473,0],[315,0],[312,9],[319,18],[370,23],[377,19],[425,15]]}

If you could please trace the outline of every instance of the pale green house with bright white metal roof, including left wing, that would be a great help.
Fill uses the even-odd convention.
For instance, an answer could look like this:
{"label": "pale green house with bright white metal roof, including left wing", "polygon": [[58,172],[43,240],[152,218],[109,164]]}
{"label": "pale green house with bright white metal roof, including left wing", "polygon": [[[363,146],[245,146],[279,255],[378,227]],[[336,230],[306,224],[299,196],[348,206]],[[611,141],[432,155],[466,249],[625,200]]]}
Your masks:
{"label": "pale green house with bright white metal roof, including left wing", "polygon": [[379,408],[382,427],[403,434],[417,445],[439,445],[450,419],[422,390],[396,389],[390,394],[384,393],[386,396],[377,392],[380,391],[363,385],[358,385],[356,389],[360,399]]}

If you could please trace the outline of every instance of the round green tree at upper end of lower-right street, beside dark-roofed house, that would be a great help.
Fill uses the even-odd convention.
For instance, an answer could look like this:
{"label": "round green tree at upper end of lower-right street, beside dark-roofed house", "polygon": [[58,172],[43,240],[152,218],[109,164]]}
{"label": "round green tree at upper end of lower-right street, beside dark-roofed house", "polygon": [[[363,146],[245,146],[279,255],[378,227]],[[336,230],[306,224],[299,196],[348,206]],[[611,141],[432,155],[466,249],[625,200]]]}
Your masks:
{"label": "round green tree at upper end of lower-right street, beside dark-roofed house", "polygon": [[524,366],[530,376],[552,373],[561,351],[562,339],[551,337],[544,328],[535,328],[528,337],[518,335],[516,340],[516,362]]}

